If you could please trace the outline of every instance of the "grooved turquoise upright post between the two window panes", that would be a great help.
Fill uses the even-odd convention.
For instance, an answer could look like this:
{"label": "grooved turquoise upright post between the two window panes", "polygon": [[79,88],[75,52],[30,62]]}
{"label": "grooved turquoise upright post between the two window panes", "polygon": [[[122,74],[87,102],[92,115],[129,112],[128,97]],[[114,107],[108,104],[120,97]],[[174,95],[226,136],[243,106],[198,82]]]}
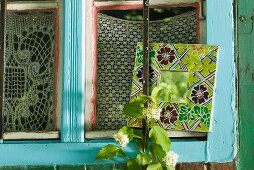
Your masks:
{"label": "grooved turquoise upright post between the two window panes", "polygon": [[62,142],[84,141],[82,0],[64,1],[62,68]]}

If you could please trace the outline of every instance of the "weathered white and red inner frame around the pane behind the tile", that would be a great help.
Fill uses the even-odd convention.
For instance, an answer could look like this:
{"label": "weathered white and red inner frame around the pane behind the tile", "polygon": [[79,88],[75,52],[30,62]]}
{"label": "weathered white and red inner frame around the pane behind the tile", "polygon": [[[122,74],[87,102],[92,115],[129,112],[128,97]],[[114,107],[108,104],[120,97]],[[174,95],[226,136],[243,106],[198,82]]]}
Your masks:
{"label": "weathered white and red inner frame around the pane behind the tile", "polygon": [[[206,17],[205,17],[205,2],[203,0],[174,0],[174,1],[165,1],[165,0],[159,0],[159,1],[150,1],[151,7],[195,7],[197,9],[197,14],[199,17],[198,22],[198,40],[200,43],[206,42]],[[115,134],[116,130],[103,130],[103,131],[96,131],[92,130],[92,127],[95,124],[95,115],[96,115],[96,95],[95,95],[95,82],[96,82],[96,65],[97,65],[97,15],[100,10],[121,10],[121,9],[142,9],[143,4],[142,1],[95,1],[93,4],[93,49],[91,53],[93,53],[93,58],[90,58],[90,60],[93,60],[93,63],[86,63],[86,68],[90,68],[90,71],[93,72],[93,77],[86,77],[86,93],[93,96],[91,98],[88,98],[86,96],[86,114],[85,114],[85,138],[86,139],[99,139],[99,138],[112,138],[113,134]],[[91,28],[90,28],[91,29]],[[91,68],[93,67],[93,68]],[[89,78],[92,78],[92,80],[89,80]],[[91,84],[94,83],[94,85]],[[93,94],[91,94],[91,91],[93,91]],[[91,103],[92,101],[92,103]],[[92,105],[92,106],[89,106]],[[88,109],[87,109],[88,108]],[[90,109],[91,108],[91,109]],[[200,133],[200,132],[188,132],[188,131],[173,131],[168,130],[169,137],[179,138],[179,137],[206,137],[206,133]]]}

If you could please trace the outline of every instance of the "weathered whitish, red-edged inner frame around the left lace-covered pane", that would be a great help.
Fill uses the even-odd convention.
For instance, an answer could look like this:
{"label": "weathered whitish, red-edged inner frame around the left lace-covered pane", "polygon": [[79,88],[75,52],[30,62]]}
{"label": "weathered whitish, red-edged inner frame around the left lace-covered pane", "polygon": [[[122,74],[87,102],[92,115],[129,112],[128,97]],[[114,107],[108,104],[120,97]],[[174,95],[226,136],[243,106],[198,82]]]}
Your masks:
{"label": "weathered whitish, red-edged inner frame around the left lace-covered pane", "polygon": [[3,132],[3,140],[50,140],[50,139],[59,139],[60,138],[60,91],[59,84],[61,83],[61,76],[59,76],[59,69],[61,65],[59,58],[61,56],[61,2],[60,1],[8,1],[6,2],[6,12],[8,11],[45,11],[45,10],[54,10],[56,11],[55,22],[55,39],[56,39],[56,50],[55,57],[56,63],[54,68],[54,119],[56,119],[57,131],[35,131],[35,132]]}

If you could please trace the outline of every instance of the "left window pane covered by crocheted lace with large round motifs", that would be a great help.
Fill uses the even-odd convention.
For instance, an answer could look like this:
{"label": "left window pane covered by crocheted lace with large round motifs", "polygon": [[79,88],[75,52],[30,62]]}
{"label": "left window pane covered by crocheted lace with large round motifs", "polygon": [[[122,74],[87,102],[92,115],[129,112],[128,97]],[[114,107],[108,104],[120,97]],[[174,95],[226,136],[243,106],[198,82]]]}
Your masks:
{"label": "left window pane covered by crocheted lace with large round motifs", "polygon": [[55,130],[55,30],[54,11],[7,12],[6,132]]}

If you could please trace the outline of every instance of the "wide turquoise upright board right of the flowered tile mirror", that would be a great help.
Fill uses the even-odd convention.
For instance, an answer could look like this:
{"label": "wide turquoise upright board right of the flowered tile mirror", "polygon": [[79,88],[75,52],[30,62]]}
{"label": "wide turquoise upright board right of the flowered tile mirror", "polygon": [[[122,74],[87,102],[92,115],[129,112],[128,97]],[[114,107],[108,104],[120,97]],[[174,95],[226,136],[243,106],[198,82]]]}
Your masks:
{"label": "wide turquoise upright board right of the flowered tile mirror", "polygon": [[208,0],[207,43],[220,46],[208,162],[229,162],[236,155],[233,0]]}

